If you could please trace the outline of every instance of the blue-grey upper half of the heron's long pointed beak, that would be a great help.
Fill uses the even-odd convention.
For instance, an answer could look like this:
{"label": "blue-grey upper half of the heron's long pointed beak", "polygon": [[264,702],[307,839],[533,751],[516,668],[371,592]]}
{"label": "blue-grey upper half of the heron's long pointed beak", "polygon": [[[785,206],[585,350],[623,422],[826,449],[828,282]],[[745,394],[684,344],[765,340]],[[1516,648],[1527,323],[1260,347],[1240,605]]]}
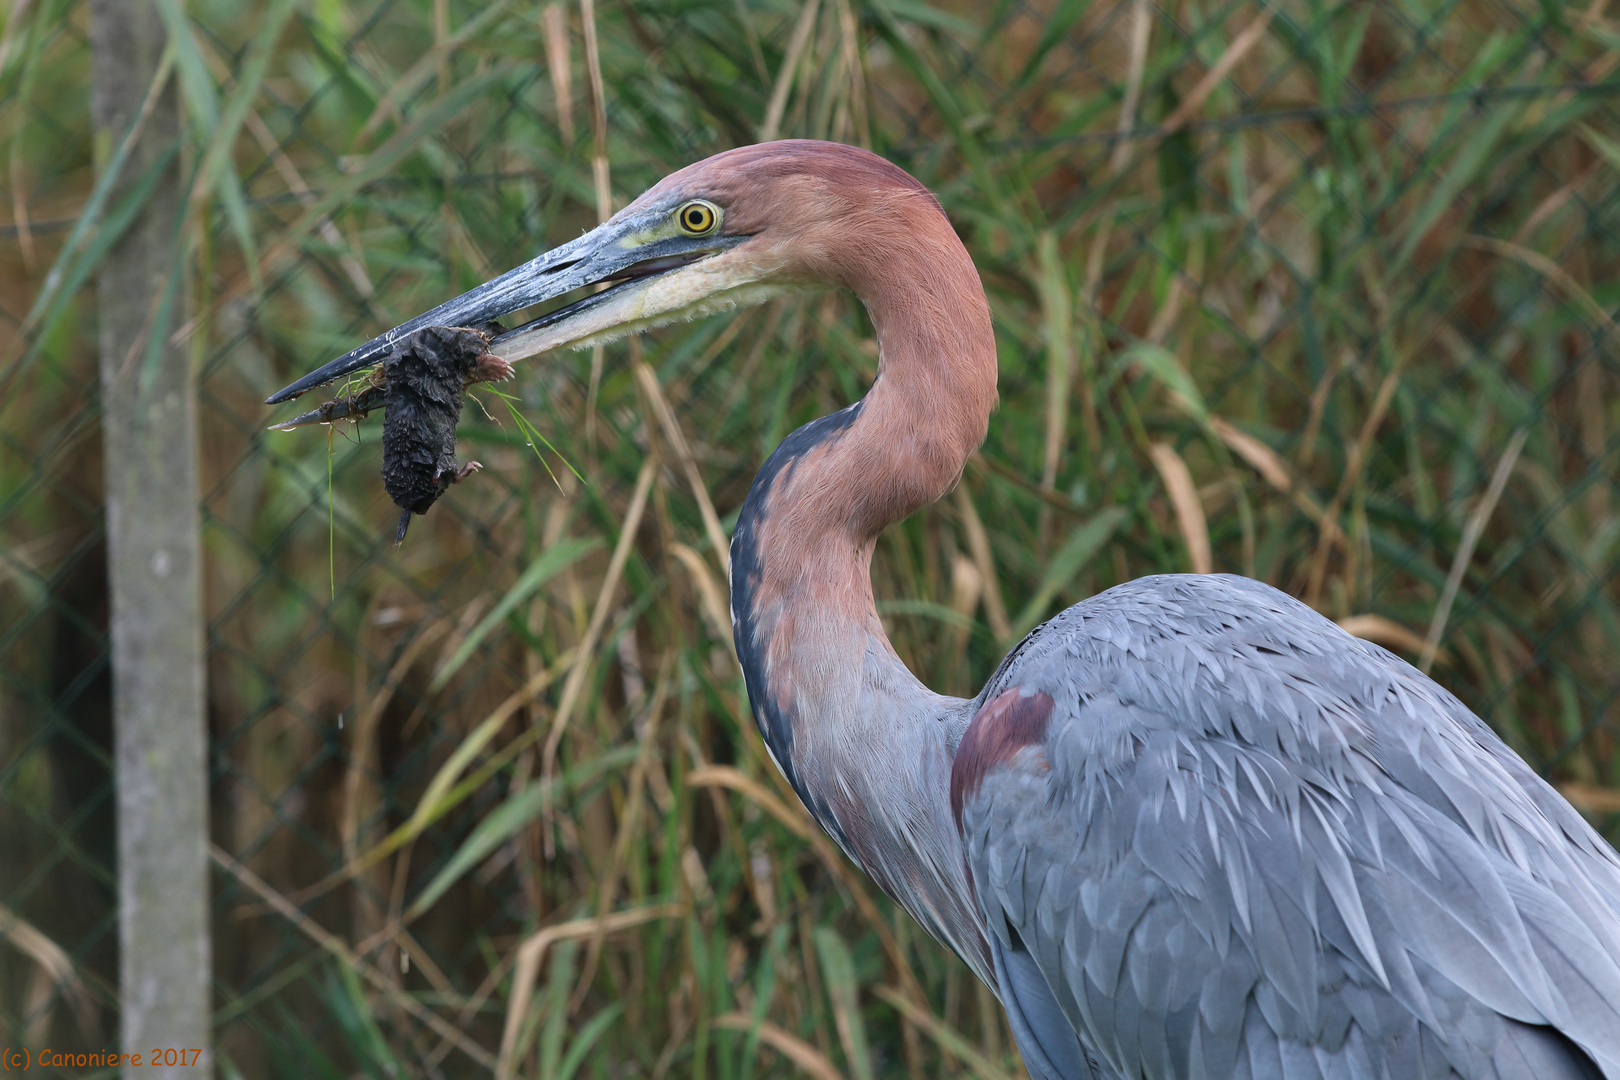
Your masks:
{"label": "blue-grey upper half of the heron's long pointed beak", "polygon": [[[535,304],[565,296],[590,285],[617,282],[614,288],[577,300],[572,304],[496,337],[491,342],[491,351],[497,356],[505,356],[507,353],[502,353],[502,345],[522,347],[526,342],[539,340],[546,335],[536,334],[538,330],[577,319],[606,303],[620,288],[719,254],[747,240],[747,236],[723,235],[703,238],[679,233],[671,235],[667,223],[667,214],[656,210],[632,214],[622,219],[616,217],[578,240],[554,248],[515,270],[507,270],[492,282],[484,282],[478,288],[462,293],[455,300],[446,301],[410,322],[402,322],[360,348],[353,348],[337,359],[316,368],[303,379],[264,398],[264,403],[279,405],[290,402],[306,390],[342,379],[361,368],[369,368],[384,358],[394,342],[423,327],[483,325],[514,311],[533,308]],[[522,355],[531,355],[533,351],[530,350]],[[515,359],[517,356],[509,358]]]}

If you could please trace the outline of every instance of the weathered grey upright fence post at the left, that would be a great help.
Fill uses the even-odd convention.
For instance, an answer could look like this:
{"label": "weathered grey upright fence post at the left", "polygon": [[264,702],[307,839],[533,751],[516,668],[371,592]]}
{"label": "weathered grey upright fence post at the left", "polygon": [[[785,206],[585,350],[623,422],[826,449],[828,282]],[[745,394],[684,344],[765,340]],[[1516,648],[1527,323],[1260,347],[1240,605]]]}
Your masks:
{"label": "weathered grey upright fence post at the left", "polygon": [[[96,157],[105,167],[143,110],[165,37],[152,0],[91,0],[89,15]],[[130,189],[156,168],[180,130],[170,81],[141,121],[120,186]],[[188,350],[168,340],[186,293],[185,282],[165,290],[183,204],[181,155],[168,160],[138,220],[99,267],[96,313],[118,787],[120,1043],[123,1052],[143,1056],[141,1067],[123,1070],[131,1080],[212,1072],[196,385]],[[160,1061],[151,1061],[154,1051]]]}

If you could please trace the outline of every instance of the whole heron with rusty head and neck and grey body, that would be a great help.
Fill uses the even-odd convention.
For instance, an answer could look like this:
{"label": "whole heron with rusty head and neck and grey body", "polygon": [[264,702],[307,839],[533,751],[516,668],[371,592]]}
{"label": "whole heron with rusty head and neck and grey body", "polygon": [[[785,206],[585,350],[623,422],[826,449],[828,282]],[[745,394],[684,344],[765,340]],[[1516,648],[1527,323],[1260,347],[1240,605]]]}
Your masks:
{"label": "whole heron with rusty head and neck and grey body", "polygon": [[873,547],[959,481],[996,347],[941,204],[883,157],[716,154],[269,402],[570,293],[491,353],[810,290],[865,304],[878,371],[739,512],[750,708],[838,847],[995,991],[1032,1077],[1620,1078],[1620,857],[1396,656],[1264,583],[1160,575],[1053,617],[972,699],[899,659]]}

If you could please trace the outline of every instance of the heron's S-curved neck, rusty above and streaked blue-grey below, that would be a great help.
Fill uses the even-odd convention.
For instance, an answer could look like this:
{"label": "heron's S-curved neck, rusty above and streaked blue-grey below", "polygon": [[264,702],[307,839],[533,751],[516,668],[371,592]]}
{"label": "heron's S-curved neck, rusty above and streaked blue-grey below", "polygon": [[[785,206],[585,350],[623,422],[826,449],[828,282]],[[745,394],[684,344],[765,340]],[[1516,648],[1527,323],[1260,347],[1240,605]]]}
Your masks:
{"label": "heron's S-curved neck, rusty above and streaked blue-grey below", "polygon": [[[878,534],[943,495],[995,403],[990,311],[932,196],[850,220],[825,270],[867,304],[878,377],[760,470],[732,538],[737,654],[765,743],[844,852],[990,984],[948,785],[969,703],[896,656],[872,596]],[[829,259],[833,256],[828,256]]]}

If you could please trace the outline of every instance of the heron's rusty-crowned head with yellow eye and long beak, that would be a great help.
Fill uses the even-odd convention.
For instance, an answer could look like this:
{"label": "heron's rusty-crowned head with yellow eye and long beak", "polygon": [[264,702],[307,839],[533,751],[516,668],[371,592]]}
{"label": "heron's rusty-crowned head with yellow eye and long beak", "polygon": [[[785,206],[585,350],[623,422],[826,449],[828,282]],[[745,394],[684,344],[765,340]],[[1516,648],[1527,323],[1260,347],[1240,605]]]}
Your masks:
{"label": "heron's rusty-crowned head with yellow eye and long beak", "polygon": [[915,261],[910,277],[938,272],[940,256],[967,259],[940,204],[904,170],[839,142],[745,146],[666,176],[578,240],[394,327],[269,403],[374,364],[390,342],[428,325],[481,325],[577,293],[491,345],[522,359],[787,291],[868,296],[876,277],[896,274],[896,253]]}

